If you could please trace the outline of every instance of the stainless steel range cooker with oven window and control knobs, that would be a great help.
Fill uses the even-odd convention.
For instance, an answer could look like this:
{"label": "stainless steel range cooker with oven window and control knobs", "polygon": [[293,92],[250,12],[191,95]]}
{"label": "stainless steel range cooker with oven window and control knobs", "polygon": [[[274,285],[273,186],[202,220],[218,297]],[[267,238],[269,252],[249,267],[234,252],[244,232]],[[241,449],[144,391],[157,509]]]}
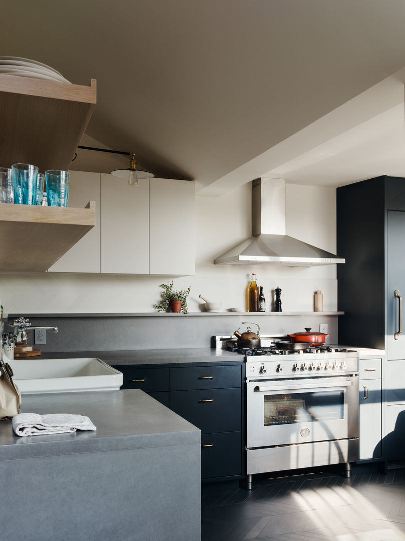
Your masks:
{"label": "stainless steel range cooker with oven window and control knobs", "polygon": [[235,336],[213,342],[246,363],[248,489],[255,473],[327,464],[344,463],[350,477],[358,459],[356,351],[309,343],[294,349],[288,336],[261,335],[253,348],[239,347]]}

